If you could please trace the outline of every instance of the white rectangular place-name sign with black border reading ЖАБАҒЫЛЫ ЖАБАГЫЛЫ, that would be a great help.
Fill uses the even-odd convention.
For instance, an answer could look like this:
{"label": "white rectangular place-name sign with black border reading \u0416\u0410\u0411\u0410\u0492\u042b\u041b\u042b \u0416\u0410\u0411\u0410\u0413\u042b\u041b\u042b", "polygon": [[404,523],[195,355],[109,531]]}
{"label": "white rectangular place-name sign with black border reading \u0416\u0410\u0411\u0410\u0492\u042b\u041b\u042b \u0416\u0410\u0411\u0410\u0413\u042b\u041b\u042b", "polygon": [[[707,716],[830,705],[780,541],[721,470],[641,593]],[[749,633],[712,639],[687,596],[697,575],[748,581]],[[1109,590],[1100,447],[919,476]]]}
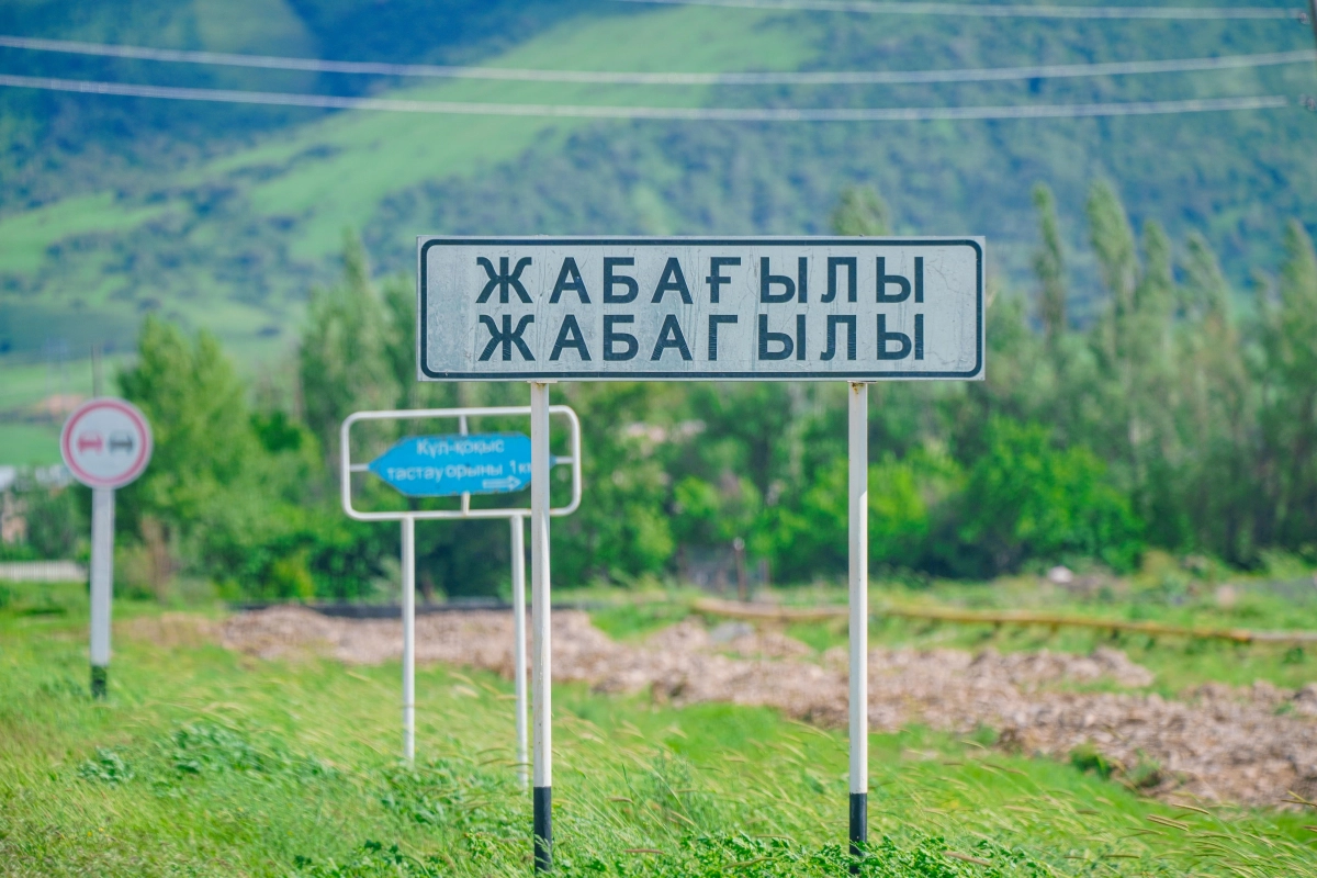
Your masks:
{"label": "white rectangular place-name sign with black border reading \u0416\u0410\u0411\u0410\u0492\u042b\u041b\u042b \u0416\u0410\u0411\u0410\u0413\u042b\u041b\u042b", "polygon": [[981,379],[984,240],[417,238],[421,380]]}

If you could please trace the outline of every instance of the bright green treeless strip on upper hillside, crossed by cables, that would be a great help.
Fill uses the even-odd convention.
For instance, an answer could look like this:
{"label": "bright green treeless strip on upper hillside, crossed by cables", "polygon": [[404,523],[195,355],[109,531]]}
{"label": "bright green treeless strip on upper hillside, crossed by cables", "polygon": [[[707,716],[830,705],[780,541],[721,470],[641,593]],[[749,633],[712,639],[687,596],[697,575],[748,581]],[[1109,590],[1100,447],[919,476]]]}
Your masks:
{"label": "bright green treeless strip on upper hillside, crossed by cables", "polygon": [[[813,55],[813,29],[765,24],[772,13],[670,8],[644,16],[599,16],[570,21],[498,57],[491,66],[569,70],[724,71],[792,70]],[[674,53],[673,47],[681,51]],[[706,103],[709,88],[645,90],[626,86],[573,86],[457,80],[399,91],[412,100],[552,104]],[[265,215],[309,212],[294,255],[325,259],[337,253],[349,217],[370,216],[391,192],[435,176],[462,176],[512,159],[536,143],[558,142],[589,120],[494,116],[383,116],[352,113],[309,125],[295,137],[242,153],[203,168],[198,178],[286,167],[252,188]],[[387,136],[382,136],[382,129]],[[292,161],[311,149],[329,153]],[[417,229],[419,232],[419,229]]]}

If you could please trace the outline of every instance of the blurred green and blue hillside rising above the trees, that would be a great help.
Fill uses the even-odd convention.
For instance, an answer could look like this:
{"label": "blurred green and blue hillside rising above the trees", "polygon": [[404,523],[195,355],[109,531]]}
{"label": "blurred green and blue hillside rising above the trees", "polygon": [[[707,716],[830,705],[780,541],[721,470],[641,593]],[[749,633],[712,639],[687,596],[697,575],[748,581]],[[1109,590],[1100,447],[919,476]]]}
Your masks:
{"label": "blurred green and blue hillside rising above the trees", "polygon": [[[125,7],[120,17],[113,7],[100,8],[70,26],[62,22],[79,17],[59,13],[74,4],[49,0],[4,13],[0,30],[345,59],[637,71],[1077,63],[1293,50],[1312,39],[1289,21],[956,20],[618,3],[516,12],[510,4],[429,12],[403,4],[367,16],[377,5],[265,4],[255,25],[209,3],[146,4]],[[412,84],[17,50],[0,53],[0,65],[159,84],[684,107],[1317,92],[1312,65],[1019,83],[716,88]],[[1083,296],[1096,288],[1079,222],[1094,178],[1115,182],[1137,222],[1159,219],[1177,240],[1205,232],[1241,283],[1275,263],[1285,217],[1317,225],[1317,117],[1297,108],[1110,120],[709,124],[325,113],[17,90],[0,97],[14,120],[9,153],[20,155],[11,159],[11,183],[0,186],[0,350],[14,354],[30,354],[47,338],[122,346],[140,316],[157,311],[270,355],[291,337],[308,288],[333,276],[346,229],[363,234],[378,269],[408,272],[421,232],[819,232],[844,184],[872,182],[892,203],[900,232],[986,233],[993,270],[1027,287],[1029,187],[1047,180],[1071,219],[1067,233],[1080,250],[1073,282]],[[51,108],[57,118],[86,122],[82,134],[53,133]],[[51,150],[45,170],[34,166],[38,147]]]}

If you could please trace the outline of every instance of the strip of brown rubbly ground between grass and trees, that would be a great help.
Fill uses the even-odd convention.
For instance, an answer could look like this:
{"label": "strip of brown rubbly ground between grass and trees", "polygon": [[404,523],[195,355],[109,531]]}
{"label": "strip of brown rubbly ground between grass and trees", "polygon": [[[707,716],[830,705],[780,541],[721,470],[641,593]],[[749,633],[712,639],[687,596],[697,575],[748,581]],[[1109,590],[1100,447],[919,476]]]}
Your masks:
{"label": "strip of brown rubbly ground between grass and trees", "polygon": [[[329,619],[278,607],[234,616],[225,646],[262,658],[308,652],[374,665],[402,654],[396,621]],[[512,677],[508,613],[436,613],[416,620],[419,662],[468,665]],[[843,649],[817,656],[799,641],[739,623],[706,629],[687,620],[641,645],[618,644],[582,612],[553,613],[553,678],[602,692],[648,690],[665,703],[766,704],[844,727]],[[1000,745],[1067,758],[1096,748],[1154,795],[1277,806],[1291,791],[1317,799],[1317,684],[1299,691],[1209,683],[1181,700],[1139,691],[1147,669],[1112,649],[1090,656],[972,654],[955,649],[869,652],[869,721],[896,731],[914,721],[951,732],[980,725]]]}

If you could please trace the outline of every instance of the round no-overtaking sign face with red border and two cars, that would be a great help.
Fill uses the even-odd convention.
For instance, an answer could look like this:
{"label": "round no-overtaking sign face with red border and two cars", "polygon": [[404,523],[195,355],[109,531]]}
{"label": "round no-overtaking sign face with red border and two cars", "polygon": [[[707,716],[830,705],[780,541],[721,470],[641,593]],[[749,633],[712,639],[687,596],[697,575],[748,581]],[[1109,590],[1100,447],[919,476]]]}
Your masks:
{"label": "round no-overtaking sign face with red border and two cars", "polygon": [[119,488],[151,459],[151,428],[132,403],[99,398],[79,405],[59,436],[65,466],[92,488]]}

